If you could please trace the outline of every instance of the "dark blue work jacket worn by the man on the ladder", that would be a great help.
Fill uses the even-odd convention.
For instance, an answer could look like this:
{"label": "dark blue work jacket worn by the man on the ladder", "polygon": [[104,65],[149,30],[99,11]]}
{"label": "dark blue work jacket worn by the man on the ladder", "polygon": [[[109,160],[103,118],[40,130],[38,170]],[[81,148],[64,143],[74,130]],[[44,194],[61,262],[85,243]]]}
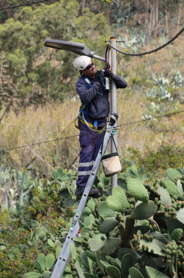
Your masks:
{"label": "dark blue work jacket worn by the man on the ladder", "polygon": [[[104,73],[102,73],[102,76],[104,77]],[[85,81],[84,77],[91,82],[93,85],[92,87],[90,87],[90,85]],[[127,87],[127,81],[116,74],[113,76],[113,81],[116,83],[117,89]],[[98,84],[95,82],[94,78],[83,75],[83,77],[79,77],[76,82],[76,91],[81,99],[81,103],[86,104],[85,110],[87,111],[87,116],[89,116],[92,120],[98,121],[103,121],[106,117],[108,117],[110,104],[108,100],[108,93],[105,91],[102,82]],[[100,94],[98,94],[98,92]],[[101,96],[101,94],[103,96]]]}

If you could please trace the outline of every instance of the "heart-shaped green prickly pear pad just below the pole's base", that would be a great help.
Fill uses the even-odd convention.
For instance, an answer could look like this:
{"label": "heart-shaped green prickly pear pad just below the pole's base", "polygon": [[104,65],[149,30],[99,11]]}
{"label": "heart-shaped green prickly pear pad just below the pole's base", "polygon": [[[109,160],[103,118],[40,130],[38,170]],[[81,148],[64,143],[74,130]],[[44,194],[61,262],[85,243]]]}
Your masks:
{"label": "heart-shaped green prickly pear pad just below the pole's base", "polygon": [[108,206],[117,212],[126,212],[130,205],[122,188],[116,186],[112,190],[112,196],[108,196],[106,200]]}

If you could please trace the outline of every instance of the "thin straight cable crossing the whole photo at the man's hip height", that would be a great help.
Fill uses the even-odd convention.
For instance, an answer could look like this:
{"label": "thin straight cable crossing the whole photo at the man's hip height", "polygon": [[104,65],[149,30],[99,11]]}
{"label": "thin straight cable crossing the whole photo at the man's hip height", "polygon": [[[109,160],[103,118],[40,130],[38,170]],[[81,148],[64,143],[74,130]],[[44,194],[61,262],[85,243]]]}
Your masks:
{"label": "thin straight cable crossing the whole photo at the man's hip height", "polygon": [[[131,125],[131,124],[133,124],[133,123],[140,123],[140,122],[143,122],[143,121],[148,121],[148,120],[157,119],[157,118],[161,118],[161,117],[166,117],[166,116],[178,114],[178,113],[181,113],[181,112],[184,112],[184,110],[183,110],[183,111],[174,112],[174,113],[170,113],[170,114],[166,114],[166,115],[161,115],[161,116],[153,117],[153,118],[149,118],[149,119],[144,119],[144,120],[140,120],[140,121],[136,121],[136,122],[132,122],[132,123],[124,123],[124,124],[122,124],[122,125],[118,125],[117,127],[124,126],[124,125]],[[109,129],[109,128],[104,129],[103,132],[106,131],[106,130],[108,130],[108,129]],[[87,133],[92,133],[92,132],[97,132],[97,131],[99,131],[99,130],[94,130],[94,131],[90,131],[90,132],[87,132]],[[83,133],[83,134],[81,134],[81,135],[84,135],[84,134],[86,134],[86,133]],[[0,153],[1,153],[1,152],[4,152],[4,151],[10,151],[10,150],[18,149],[18,148],[25,148],[25,147],[28,147],[28,146],[34,146],[34,145],[39,145],[39,144],[43,144],[43,143],[53,142],[53,141],[57,141],[57,140],[68,139],[68,138],[72,138],[72,137],[76,137],[76,136],[79,136],[79,134],[72,135],[72,136],[68,136],[68,137],[63,137],[63,138],[58,138],[58,139],[53,139],[53,140],[49,140],[49,141],[45,141],[45,142],[30,144],[30,145],[26,145],[26,146],[20,146],[20,147],[15,147],[15,148],[9,148],[9,149],[0,151]]]}

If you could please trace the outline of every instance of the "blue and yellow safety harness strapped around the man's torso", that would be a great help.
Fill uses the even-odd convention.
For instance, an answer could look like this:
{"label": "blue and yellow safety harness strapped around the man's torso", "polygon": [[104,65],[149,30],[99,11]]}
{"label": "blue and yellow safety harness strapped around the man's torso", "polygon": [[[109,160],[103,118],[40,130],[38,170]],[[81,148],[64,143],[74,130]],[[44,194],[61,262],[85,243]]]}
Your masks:
{"label": "blue and yellow safety harness strapped around the man's torso", "polygon": [[[88,83],[89,87],[93,86],[87,77],[81,76],[81,78],[83,78]],[[104,83],[104,77],[101,77],[101,81],[102,81],[102,83]],[[99,94],[102,98],[106,95],[106,94],[101,94],[99,92],[97,92],[97,94]],[[108,97],[108,94],[107,94],[107,97]],[[98,121],[97,120],[94,121],[94,124],[89,123],[85,120],[84,114],[88,115],[87,111],[84,110],[86,106],[87,106],[86,102],[82,103],[82,105],[79,109],[79,114],[75,119],[75,127],[77,129],[79,129],[78,125],[76,125],[76,121],[78,121],[80,119],[81,123],[83,123],[84,125],[87,125],[89,127],[89,129],[98,130],[98,127],[97,127]],[[103,132],[103,130],[105,128],[106,128],[106,125],[104,125],[101,130],[98,130],[97,134],[100,134],[101,132]]]}

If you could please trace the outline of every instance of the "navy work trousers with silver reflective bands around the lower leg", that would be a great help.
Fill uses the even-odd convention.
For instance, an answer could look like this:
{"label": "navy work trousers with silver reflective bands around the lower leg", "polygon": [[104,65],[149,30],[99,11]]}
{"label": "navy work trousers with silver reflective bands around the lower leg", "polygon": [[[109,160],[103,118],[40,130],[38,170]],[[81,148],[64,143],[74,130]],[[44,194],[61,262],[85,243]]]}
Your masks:
{"label": "navy work trousers with silver reflective bands around the lower leg", "polygon": [[[102,129],[106,122],[106,119],[98,121],[98,129]],[[76,181],[77,188],[86,186],[105,134],[105,131],[100,134],[91,132],[89,127],[81,123],[81,121],[78,121],[78,126],[80,129],[79,142],[81,151],[78,164],[78,179]]]}

